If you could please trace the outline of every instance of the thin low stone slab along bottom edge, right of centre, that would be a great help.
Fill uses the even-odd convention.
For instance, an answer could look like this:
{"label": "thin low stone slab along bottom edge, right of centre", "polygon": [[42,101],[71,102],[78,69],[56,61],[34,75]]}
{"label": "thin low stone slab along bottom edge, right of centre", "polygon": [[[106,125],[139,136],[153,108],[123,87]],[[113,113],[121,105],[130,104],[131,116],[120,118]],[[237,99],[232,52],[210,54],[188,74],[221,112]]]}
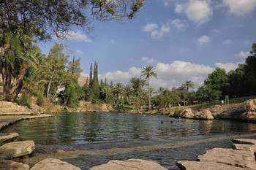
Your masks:
{"label": "thin low stone slab along bottom edge, right of centre", "polygon": [[178,161],[178,168],[182,170],[242,170],[243,168],[229,166],[225,163],[216,163],[208,161]]}

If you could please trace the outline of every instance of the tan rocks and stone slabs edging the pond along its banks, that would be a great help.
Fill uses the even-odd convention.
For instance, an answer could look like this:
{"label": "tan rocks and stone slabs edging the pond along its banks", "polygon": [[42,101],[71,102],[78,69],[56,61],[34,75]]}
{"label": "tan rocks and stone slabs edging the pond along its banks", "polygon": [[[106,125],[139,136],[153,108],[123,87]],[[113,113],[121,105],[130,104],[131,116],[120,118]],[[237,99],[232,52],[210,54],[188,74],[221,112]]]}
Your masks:
{"label": "tan rocks and stone slabs edging the pond along its banks", "polygon": [[[228,109],[219,109],[219,106],[210,107],[208,109],[192,110],[190,108],[180,111],[169,112],[169,116],[186,117],[192,119],[232,119],[256,122],[256,99],[245,101],[241,105],[233,105]],[[86,105],[86,110],[80,107],[80,112],[95,109],[92,105]],[[109,110],[99,109],[98,112]],[[221,111],[220,111],[221,110]],[[72,110],[70,110],[72,112]],[[94,111],[94,110],[91,110]],[[6,101],[0,103],[0,129],[12,123],[24,119],[50,117],[51,115],[39,114],[26,107],[20,107]],[[30,155],[35,150],[33,141],[9,142],[10,139],[18,137],[17,133],[0,133],[0,169],[80,169],[70,163],[61,161],[56,158],[47,158],[39,161],[33,167],[29,165],[12,161],[12,158],[20,158],[24,155]],[[4,142],[4,143],[2,143]],[[213,170],[213,169],[256,169],[255,139],[233,139],[233,149],[214,148],[207,150],[205,154],[199,155],[196,161],[178,161],[176,165],[180,169],[186,170]],[[91,170],[108,170],[108,169],[165,169],[154,161],[146,161],[142,159],[129,159],[127,161],[109,161],[108,163],[94,166]]]}

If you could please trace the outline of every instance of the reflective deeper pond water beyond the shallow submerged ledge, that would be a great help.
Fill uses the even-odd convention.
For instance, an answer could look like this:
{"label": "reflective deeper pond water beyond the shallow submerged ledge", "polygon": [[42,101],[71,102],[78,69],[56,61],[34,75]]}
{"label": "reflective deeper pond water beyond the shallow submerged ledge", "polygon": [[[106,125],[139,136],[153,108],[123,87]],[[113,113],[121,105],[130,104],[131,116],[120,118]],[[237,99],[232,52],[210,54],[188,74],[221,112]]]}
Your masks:
{"label": "reflective deeper pond water beyond the shallow submerged ledge", "polygon": [[[164,124],[161,124],[161,120]],[[173,124],[170,124],[170,121]],[[178,120],[162,115],[127,113],[67,113],[53,117],[22,120],[3,132],[17,132],[18,140],[36,144],[85,144],[134,140],[178,139],[185,136],[247,134],[256,124],[230,120]]]}

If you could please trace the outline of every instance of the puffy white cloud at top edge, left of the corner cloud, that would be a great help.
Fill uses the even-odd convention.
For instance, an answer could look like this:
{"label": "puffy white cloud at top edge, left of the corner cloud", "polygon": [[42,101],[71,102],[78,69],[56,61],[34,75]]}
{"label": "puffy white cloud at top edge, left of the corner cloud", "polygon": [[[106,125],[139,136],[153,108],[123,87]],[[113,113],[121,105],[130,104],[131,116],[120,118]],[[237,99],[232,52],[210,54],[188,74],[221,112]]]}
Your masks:
{"label": "puffy white cloud at top edge, left of the corner cloud", "polygon": [[184,12],[189,20],[194,20],[198,23],[205,22],[213,15],[208,0],[189,0],[184,4],[176,4],[175,12]]}

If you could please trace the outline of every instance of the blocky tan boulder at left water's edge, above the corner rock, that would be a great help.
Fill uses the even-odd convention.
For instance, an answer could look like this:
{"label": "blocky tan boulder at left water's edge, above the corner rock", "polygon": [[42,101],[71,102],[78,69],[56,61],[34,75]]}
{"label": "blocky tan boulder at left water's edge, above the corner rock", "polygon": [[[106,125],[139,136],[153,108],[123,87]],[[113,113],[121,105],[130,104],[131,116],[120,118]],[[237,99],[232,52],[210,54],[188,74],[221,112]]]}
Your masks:
{"label": "blocky tan boulder at left water's edge, above the corner rock", "polygon": [[13,157],[29,155],[35,149],[34,141],[10,142],[0,147],[0,150],[7,150],[13,153]]}

